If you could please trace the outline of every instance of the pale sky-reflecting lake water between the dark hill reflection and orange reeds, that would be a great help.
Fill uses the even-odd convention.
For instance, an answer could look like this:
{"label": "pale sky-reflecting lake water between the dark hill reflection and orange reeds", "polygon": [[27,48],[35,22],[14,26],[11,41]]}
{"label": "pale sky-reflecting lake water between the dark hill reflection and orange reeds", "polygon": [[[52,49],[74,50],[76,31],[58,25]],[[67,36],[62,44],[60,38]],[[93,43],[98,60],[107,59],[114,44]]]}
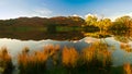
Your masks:
{"label": "pale sky-reflecting lake water between the dark hill reflection and orange reeds", "polygon": [[[131,48],[132,41],[121,42],[114,39],[114,37],[108,37],[103,39],[86,37],[84,39],[76,40],[76,41],[67,41],[67,40],[57,41],[57,40],[51,40],[51,39],[36,41],[36,40],[18,40],[18,39],[1,38],[0,47],[4,46],[8,48],[8,51],[13,59],[13,64],[16,64],[16,55],[22,51],[24,47],[29,47],[30,51],[34,51],[34,50],[42,50],[44,46],[47,46],[47,45],[59,45],[61,48],[65,46],[74,47],[79,51],[88,47],[90,44],[99,40],[106,42],[109,47],[109,50],[112,52],[113,65],[122,65],[124,62],[132,63],[132,52],[128,52],[121,48],[122,44],[130,45],[130,48]],[[113,47],[114,47],[114,50],[113,50]]]}

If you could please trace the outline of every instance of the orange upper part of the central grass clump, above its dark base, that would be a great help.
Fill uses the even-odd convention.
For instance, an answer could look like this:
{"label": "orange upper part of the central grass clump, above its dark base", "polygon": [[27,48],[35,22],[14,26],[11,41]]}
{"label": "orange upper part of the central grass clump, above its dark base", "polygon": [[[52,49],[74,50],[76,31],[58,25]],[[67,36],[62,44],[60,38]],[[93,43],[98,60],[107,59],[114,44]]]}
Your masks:
{"label": "orange upper part of the central grass clump, above its dark base", "polygon": [[79,60],[79,53],[75,48],[65,47],[62,52],[62,63],[67,67],[76,67]]}

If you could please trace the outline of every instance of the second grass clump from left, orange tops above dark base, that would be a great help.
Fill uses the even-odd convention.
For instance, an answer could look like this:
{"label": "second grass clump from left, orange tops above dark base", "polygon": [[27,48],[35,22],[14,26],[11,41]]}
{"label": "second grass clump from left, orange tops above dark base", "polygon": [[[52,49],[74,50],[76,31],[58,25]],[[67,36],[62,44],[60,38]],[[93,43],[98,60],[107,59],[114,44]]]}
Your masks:
{"label": "second grass clump from left, orange tops above dark base", "polygon": [[20,74],[44,73],[48,55],[44,51],[34,51],[29,53],[29,48],[24,48],[18,57]]}

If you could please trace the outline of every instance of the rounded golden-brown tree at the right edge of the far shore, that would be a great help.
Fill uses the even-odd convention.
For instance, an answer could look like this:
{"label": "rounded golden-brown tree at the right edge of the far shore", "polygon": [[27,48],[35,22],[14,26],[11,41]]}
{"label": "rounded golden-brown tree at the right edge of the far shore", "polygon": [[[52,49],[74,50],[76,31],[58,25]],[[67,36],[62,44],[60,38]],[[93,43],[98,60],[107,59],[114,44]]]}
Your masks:
{"label": "rounded golden-brown tree at the right edge of the far shore", "polygon": [[[130,36],[132,33],[132,18],[130,16],[121,16],[116,18],[109,28],[114,35]],[[113,30],[114,29],[114,30]]]}

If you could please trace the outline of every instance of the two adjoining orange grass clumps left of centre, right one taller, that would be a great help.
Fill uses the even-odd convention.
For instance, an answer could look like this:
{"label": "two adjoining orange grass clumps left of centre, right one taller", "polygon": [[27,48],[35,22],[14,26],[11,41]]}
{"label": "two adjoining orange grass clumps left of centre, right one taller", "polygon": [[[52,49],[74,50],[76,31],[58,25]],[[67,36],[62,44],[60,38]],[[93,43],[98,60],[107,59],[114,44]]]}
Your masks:
{"label": "two adjoining orange grass clumps left of centre, right one taller", "polygon": [[54,64],[56,64],[56,54],[59,50],[58,46],[48,45],[41,51],[34,51],[30,53],[29,48],[24,48],[22,53],[18,57],[18,63],[20,69],[20,74],[45,73],[46,61],[52,58]]}

